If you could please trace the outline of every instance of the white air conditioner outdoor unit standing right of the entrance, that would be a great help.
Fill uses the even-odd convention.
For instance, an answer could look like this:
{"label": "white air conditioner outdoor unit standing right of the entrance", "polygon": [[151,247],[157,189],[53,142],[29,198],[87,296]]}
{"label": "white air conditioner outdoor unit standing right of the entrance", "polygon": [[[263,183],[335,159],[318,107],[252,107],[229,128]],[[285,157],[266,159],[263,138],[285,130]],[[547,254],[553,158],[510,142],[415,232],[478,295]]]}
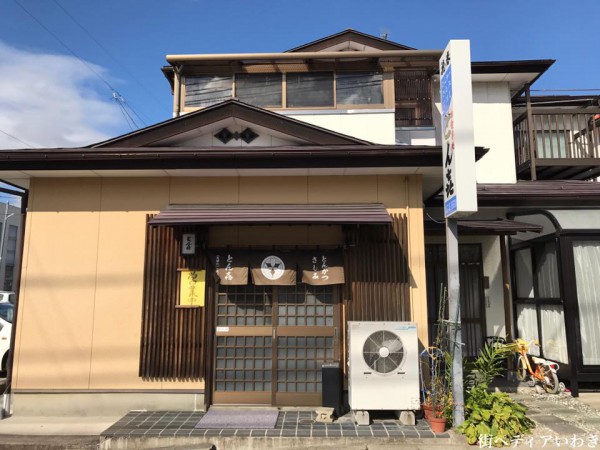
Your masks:
{"label": "white air conditioner outdoor unit standing right of the entrance", "polygon": [[369,423],[369,410],[393,410],[414,425],[421,403],[417,325],[348,322],[348,348],[348,401],[358,424]]}

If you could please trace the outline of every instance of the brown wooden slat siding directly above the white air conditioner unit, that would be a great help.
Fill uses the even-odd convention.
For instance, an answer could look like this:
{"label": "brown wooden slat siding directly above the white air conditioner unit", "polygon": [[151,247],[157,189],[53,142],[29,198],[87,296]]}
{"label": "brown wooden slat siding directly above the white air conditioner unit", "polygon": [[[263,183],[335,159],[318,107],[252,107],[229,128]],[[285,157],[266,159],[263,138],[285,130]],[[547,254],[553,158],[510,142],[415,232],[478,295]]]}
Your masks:
{"label": "brown wooden slat siding directly above the white air conditioner unit", "polygon": [[391,225],[346,228],[346,320],[410,320],[408,232],[405,214]]}

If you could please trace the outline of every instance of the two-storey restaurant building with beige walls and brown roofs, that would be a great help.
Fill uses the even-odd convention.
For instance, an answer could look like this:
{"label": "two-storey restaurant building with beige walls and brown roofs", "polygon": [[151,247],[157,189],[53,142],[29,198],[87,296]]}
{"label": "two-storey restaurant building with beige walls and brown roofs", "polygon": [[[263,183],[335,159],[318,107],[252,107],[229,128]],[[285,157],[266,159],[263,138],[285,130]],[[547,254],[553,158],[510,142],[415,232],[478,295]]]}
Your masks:
{"label": "two-storey restaurant building with beige walls and brown roofs", "polygon": [[[445,264],[429,220],[442,218],[441,53],[348,30],[284,53],[170,55],[173,119],[0,151],[0,178],[29,190],[14,412],[319,405],[347,321],[414,321],[426,347]],[[597,212],[554,208],[591,208],[600,189],[539,180],[598,176],[600,111],[548,122],[544,102],[523,103],[552,63],[472,64],[481,208],[459,226],[463,335],[472,355],[486,336],[537,332],[576,386],[598,380],[577,334],[593,335],[598,309],[569,280],[600,291],[585,272],[599,265],[562,249],[575,241],[585,263],[600,232],[565,234]],[[556,242],[567,269],[552,275]]]}

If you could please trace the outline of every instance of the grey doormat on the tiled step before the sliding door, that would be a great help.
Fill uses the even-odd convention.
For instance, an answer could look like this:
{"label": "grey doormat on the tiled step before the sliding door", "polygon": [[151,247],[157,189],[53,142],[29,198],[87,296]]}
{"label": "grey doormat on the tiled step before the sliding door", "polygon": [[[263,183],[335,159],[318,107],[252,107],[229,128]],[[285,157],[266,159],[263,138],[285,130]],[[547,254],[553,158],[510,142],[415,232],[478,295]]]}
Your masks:
{"label": "grey doormat on the tiled step before the sliding door", "polygon": [[253,411],[210,409],[200,419],[195,428],[231,429],[231,428],[275,428],[279,411]]}

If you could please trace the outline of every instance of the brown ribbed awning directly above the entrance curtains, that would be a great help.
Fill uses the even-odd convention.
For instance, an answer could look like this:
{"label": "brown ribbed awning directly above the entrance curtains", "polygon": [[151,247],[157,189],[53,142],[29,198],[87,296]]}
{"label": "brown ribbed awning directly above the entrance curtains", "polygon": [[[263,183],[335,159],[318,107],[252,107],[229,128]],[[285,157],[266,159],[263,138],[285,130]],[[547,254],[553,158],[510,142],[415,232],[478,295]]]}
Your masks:
{"label": "brown ribbed awning directly above the entrance curtains", "polygon": [[384,224],[392,223],[381,203],[319,205],[169,205],[151,225],[178,224]]}

